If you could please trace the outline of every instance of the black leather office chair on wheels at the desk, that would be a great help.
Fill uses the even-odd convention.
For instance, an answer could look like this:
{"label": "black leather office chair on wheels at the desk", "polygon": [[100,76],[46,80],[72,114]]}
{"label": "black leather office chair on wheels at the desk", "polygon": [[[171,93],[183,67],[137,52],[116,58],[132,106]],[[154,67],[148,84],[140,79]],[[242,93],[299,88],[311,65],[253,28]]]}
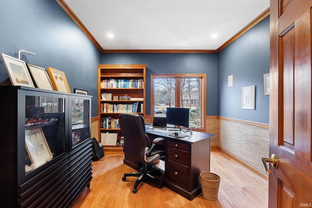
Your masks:
{"label": "black leather office chair on wheels at the desk", "polygon": [[145,181],[149,180],[157,184],[160,189],[162,182],[155,178],[153,175],[161,175],[161,170],[147,170],[148,163],[159,163],[159,158],[164,154],[163,150],[156,150],[156,144],[163,138],[156,138],[153,140],[153,144],[145,133],[144,118],[141,115],[133,113],[121,113],[119,115],[119,125],[122,135],[124,137],[123,152],[129,156],[135,158],[142,163],[141,171],[125,173],[122,177],[122,181],[126,180],[127,176],[139,177],[134,185],[133,193],[137,192],[137,186]]}

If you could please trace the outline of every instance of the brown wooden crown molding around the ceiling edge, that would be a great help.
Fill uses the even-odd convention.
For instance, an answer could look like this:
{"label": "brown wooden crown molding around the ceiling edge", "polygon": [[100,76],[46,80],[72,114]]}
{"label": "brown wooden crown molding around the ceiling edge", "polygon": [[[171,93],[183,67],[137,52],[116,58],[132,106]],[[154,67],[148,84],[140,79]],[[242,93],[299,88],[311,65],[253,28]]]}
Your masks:
{"label": "brown wooden crown molding around the ceiling edge", "polygon": [[262,12],[258,17],[256,17],[253,21],[251,21],[248,25],[246,25],[243,29],[241,29],[238,33],[236,33],[232,38],[226,41],[223,45],[221,45],[216,50],[105,50],[103,49],[98,41],[91,35],[88,29],[83,25],[83,23],[78,19],[75,13],[69,8],[67,3],[64,0],[56,0],[59,5],[63,8],[63,10],[72,18],[76,24],[80,27],[80,29],[86,34],[86,36],[93,42],[93,44],[98,48],[98,50],[102,53],[176,53],[176,54],[215,54],[219,53],[222,49],[230,45],[234,40],[242,36],[248,30],[253,28],[257,23],[261,20],[265,19],[270,15],[270,7]]}

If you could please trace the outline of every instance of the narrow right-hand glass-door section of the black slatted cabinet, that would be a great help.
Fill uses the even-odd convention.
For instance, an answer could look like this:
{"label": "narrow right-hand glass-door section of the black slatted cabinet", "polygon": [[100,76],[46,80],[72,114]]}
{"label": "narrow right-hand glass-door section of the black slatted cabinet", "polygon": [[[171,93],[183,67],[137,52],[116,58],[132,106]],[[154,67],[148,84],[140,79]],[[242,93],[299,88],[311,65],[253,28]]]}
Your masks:
{"label": "narrow right-hand glass-door section of the black slatted cabinet", "polygon": [[71,201],[74,202],[92,179],[91,96],[69,97],[71,128],[69,138],[69,176]]}

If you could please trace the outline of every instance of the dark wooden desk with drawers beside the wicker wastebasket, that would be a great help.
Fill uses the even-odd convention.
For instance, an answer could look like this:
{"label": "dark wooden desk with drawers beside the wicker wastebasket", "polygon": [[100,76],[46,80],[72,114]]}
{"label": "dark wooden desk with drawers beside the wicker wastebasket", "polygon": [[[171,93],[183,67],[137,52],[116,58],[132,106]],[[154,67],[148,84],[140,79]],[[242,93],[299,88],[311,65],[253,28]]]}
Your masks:
{"label": "dark wooden desk with drawers beside the wicker wastebasket", "polygon": [[[164,186],[181,196],[193,200],[201,193],[199,173],[210,171],[210,138],[214,134],[195,132],[184,138],[169,135],[174,133],[156,132],[147,126],[145,131],[150,140],[165,138],[165,179]],[[186,134],[186,133],[183,133]],[[127,158],[124,163],[137,169],[139,164]]]}

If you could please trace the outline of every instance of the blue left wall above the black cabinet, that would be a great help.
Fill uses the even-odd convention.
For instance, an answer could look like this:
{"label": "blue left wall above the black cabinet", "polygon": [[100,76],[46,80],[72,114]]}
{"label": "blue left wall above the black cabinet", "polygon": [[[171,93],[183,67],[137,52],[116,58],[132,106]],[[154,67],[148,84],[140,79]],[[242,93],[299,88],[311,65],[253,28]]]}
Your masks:
{"label": "blue left wall above the black cabinet", "polygon": [[[63,71],[71,91],[87,90],[92,116],[98,115],[98,63],[101,53],[55,0],[3,0],[0,53],[43,68]],[[0,82],[8,77],[0,58]]]}

